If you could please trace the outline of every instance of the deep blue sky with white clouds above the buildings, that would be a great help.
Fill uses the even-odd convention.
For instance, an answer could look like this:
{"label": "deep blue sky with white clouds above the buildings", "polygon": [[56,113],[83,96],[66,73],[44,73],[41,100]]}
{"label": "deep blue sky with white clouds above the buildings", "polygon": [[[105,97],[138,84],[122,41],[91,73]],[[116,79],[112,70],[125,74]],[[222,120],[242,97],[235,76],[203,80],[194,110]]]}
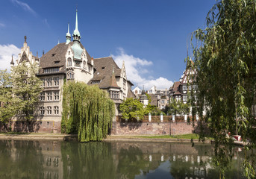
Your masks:
{"label": "deep blue sky with white clouds above the buildings", "polygon": [[[187,40],[215,0],[4,0],[0,10],[0,69],[9,67],[24,36],[34,55],[66,41],[75,29],[94,57],[111,56],[120,66],[125,60],[128,79],[146,90],[169,88],[185,68]],[[189,54],[191,50],[188,50]],[[121,66],[120,66],[121,67]]]}

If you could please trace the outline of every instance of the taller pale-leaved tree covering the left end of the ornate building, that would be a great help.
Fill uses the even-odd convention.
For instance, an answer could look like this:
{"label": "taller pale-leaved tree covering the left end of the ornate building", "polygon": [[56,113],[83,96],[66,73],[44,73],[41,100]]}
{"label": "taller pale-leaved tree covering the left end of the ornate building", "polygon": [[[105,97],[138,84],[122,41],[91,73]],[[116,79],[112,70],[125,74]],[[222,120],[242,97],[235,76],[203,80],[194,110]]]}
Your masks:
{"label": "taller pale-leaved tree covering the left end of the ornate building", "polygon": [[11,84],[15,111],[25,114],[26,119],[33,118],[34,110],[43,91],[42,81],[37,78],[39,66],[37,63],[19,63],[11,69]]}

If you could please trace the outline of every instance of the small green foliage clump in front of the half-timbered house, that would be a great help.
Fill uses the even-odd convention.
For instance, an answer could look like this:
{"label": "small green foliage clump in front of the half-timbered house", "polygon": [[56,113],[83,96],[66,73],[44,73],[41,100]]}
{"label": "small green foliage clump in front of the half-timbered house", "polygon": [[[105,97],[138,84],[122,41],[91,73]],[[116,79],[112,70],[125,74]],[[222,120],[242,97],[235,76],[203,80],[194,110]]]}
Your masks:
{"label": "small green foliage clump in front of the half-timbered house", "polygon": [[181,116],[190,113],[190,104],[184,104],[182,101],[176,101],[172,99],[168,104],[168,113],[170,114],[180,114]]}

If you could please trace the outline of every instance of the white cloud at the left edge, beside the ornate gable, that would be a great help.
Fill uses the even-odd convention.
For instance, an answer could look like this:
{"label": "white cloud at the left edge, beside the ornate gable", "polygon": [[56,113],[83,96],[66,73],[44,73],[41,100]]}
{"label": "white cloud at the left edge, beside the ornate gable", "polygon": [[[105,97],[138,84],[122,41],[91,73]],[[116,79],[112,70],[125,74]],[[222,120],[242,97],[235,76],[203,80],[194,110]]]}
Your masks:
{"label": "white cloud at the left edge, beside the ornate gable", "polygon": [[0,45],[0,69],[7,69],[10,72],[10,61],[13,55],[13,61],[18,59],[20,49],[16,45]]}

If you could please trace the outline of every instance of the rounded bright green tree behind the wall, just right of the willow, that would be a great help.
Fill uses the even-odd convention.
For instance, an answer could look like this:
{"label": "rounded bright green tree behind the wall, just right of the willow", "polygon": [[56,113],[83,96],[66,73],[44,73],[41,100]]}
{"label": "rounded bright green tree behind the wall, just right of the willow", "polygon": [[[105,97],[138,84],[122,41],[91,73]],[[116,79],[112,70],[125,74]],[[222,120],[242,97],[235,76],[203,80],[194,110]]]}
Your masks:
{"label": "rounded bright green tree behind the wall, just right of the willow", "polygon": [[145,109],[143,104],[134,98],[126,98],[122,104],[119,105],[122,111],[122,119],[144,119]]}

